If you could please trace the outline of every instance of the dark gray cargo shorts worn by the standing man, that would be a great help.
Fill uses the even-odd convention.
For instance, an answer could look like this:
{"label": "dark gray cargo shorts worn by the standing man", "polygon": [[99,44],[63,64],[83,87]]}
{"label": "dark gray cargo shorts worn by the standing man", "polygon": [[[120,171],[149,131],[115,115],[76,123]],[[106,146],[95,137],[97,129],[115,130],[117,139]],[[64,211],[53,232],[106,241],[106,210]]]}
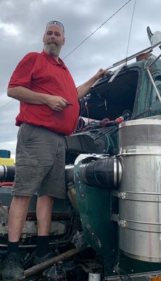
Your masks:
{"label": "dark gray cargo shorts worn by the standing man", "polygon": [[12,194],[35,193],[66,197],[64,136],[23,123],[18,131]]}

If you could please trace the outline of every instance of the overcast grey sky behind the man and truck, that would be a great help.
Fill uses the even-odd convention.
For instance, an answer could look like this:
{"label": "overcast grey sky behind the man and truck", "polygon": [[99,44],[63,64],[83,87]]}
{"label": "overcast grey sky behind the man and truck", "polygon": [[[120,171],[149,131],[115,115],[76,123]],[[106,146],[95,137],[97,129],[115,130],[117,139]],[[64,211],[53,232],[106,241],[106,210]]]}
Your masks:
{"label": "overcast grey sky behind the man and truck", "polygon": [[[15,117],[18,115],[19,102],[8,98],[6,89],[10,76],[22,57],[31,51],[42,51],[46,23],[59,20],[64,24],[66,44],[60,55],[63,59],[106,22],[64,59],[78,86],[100,67],[105,69],[126,55],[151,46],[146,34],[148,25],[152,32],[161,31],[160,0],[137,0],[135,9],[135,0],[127,2],[128,0],[0,0],[0,149],[10,150],[11,155],[15,155],[18,132]],[[123,5],[124,8],[120,9]],[[116,15],[111,18],[114,13]],[[111,19],[108,20],[109,18]],[[153,53],[158,55],[159,50],[155,49]]]}

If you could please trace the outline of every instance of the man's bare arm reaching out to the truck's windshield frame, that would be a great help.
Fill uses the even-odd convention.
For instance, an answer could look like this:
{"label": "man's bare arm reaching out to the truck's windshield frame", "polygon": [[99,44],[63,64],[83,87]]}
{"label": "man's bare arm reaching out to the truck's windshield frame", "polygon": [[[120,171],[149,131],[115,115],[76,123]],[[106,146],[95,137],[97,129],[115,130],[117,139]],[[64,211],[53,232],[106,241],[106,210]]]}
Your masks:
{"label": "man's bare arm reaching out to the truck's windshield frame", "polygon": [[92,84],[94,84],[95,81],[102,77],[105,72],[106,70],[102,70],[102,68],[100,68],[100,70],[93,77],[91,77],[90,80],[86,81],[84,84],[78,87],[78,100],[80,100],[80,98],[83,98],[83,96],[85,96],[88,91],[90,91]]}

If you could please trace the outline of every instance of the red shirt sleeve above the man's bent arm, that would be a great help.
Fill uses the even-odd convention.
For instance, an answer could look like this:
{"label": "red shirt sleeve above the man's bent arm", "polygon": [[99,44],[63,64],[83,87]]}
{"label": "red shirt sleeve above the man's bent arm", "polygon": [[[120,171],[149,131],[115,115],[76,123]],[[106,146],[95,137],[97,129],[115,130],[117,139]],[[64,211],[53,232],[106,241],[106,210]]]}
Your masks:
{"label": "red shirt sleeve above the man's bent arm", "polygon": [[37,56],[38,53],[28,53],[22,60],[20,60],[20,63],[18,63],[10,78],[8,88],[24,86],[25,88],[30,89],[31,78],[34,74],[34,65]]}

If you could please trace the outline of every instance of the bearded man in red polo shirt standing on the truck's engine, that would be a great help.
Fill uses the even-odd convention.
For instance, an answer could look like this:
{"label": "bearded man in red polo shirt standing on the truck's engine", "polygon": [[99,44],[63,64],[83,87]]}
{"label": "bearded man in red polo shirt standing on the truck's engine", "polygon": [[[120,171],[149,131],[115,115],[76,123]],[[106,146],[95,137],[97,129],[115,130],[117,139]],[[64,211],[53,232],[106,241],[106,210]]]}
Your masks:
{"label": "bearded man in red polo shirt standing on the truck's engine", "polygon": [[20,126],[16,148],[13,201],[8,216],[8,254],[3,262],[3,279],[24,277],[18,258],[18,241],[27,217],[31,196],[37,192],[38,237],[34,264],[53,257],[49,248],[53,198],[64,198],[64,135],[78,122],[78,100],[103,74],[99,70],[76,89],[59,53],[64,45],[64,26],[48,22],[42,53],[28,53],[15,68],[8,96],[20,100],[16,125]]}

